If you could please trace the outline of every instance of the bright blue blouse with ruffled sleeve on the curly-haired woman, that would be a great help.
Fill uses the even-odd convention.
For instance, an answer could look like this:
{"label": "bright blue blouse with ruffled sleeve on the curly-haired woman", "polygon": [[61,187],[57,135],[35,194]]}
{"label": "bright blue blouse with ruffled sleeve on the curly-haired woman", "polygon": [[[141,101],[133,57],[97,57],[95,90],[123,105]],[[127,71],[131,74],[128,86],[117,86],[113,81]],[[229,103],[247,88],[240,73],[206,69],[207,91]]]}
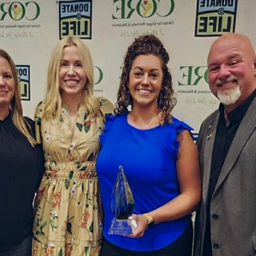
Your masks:
{"label": "bright blue blouse with ruffled sleeve on the curly-haired woman", "polygon": [[100,136],[101,151],[96,169],[104,211],[103,236],[109,242],[134,251],[162,249],[174,242],[187,228],[190,215],[163,222],[145,230],[141,238],[109,235],[111,194],[119,165],[131,187],[135,200],[135,214],[150,212],[180,194],[176,160],[179,151],[177,135],[191,127],[173,117],[172,124],[140,130],[127,123],[127,113],[106,117]]}

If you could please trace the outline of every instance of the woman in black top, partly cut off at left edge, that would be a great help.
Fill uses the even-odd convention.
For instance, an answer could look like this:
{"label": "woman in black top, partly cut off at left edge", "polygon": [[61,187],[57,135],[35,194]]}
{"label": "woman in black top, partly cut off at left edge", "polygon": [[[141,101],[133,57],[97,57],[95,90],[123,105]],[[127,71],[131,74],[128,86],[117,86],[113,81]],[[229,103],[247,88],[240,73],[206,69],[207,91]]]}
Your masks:
{"label": "woman in black top, partly cut off at left edge", "polygon": [[43,163],[34,122],[23,117],[16,67],[0,50],[0,256],[31,255],[32,202]]}

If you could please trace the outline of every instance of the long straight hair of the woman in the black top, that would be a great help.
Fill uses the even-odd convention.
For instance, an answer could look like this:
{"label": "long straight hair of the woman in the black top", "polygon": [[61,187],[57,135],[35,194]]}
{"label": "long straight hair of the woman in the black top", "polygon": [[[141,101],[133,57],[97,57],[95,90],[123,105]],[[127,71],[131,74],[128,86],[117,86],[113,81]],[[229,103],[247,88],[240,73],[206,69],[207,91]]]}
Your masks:
{"label": "long straight hair of the woman in the black top", "polygon": [[16,66],[10,57],[10,55],[5,52],[4,50],[0,49],[0,56],[5,58],[12,70],[13,78],[14,78],[14,96],[11,99],[11,118],[13,124],[16,126],[16,128],[22,133],[32,147],[36,144],[35,139],[32,136],[32,131],[29,123],[27,120],[23,117],[23,110],[22,110],[22,99],[20,98],[20,91],[19,91],[19,83],[18,83],[18,73],[16,70]]}

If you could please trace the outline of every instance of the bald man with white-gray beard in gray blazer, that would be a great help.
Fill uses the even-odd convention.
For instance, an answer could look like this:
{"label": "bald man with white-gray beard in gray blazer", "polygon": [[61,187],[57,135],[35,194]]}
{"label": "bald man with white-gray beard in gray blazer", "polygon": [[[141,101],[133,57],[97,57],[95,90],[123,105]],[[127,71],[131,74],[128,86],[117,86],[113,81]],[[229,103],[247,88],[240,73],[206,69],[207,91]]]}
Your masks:
{"label": "bald man with white-gray beard in gray blazer", "polygon": [[209,88],[221,103],[197,141],[202,200],[194,256],[255,256],[256,57],[249,38],[220,36],[207,66]]}

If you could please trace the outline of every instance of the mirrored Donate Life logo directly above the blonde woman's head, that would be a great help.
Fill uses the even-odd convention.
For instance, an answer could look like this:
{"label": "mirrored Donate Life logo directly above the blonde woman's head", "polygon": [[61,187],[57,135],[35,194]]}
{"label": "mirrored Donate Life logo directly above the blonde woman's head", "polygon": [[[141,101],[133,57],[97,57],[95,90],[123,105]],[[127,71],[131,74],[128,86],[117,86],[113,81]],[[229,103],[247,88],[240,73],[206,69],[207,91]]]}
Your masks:
{"label": "mirrored Donate Life logo directly above the blonde woman's head", "polygon": [[59,38],[92,38],[92,0],[59,1]]}

